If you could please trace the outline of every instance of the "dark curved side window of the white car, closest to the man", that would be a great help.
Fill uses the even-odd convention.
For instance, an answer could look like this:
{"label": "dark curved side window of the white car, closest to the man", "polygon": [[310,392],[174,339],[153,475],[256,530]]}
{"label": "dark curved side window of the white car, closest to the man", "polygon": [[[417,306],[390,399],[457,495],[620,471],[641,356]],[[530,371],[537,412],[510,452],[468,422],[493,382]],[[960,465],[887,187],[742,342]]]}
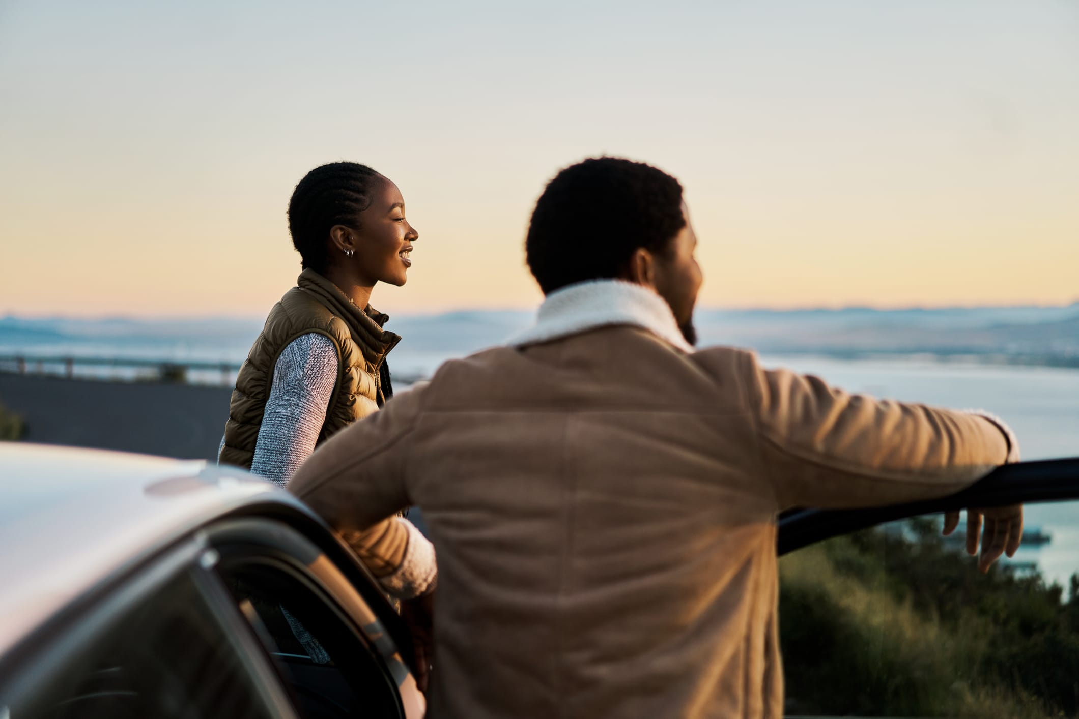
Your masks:
{"label": "dark curved side window of the white car, closest to the man", "polygon": [[320,592],[277,565],[232,564],[221,571],[304,717],[402,716],[396,682],[379,655]]}

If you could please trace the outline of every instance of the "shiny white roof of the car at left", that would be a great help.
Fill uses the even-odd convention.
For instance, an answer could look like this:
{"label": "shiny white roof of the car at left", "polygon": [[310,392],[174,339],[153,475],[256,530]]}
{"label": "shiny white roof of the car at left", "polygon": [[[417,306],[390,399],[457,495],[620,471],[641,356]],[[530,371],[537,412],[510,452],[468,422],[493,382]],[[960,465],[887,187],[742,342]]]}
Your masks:
{"label": "shiny white roof of the car at left", "polygon": [[95,585],[261,502],[302,508],[203,460],[0,442],[0,654]]}

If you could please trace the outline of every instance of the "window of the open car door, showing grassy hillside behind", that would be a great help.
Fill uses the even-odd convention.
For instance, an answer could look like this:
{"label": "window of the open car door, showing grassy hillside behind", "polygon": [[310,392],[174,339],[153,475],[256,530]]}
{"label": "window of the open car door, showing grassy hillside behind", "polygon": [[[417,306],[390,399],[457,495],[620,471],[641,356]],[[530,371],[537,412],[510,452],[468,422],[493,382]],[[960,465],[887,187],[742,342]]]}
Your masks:
{"label": "window of the open car door, showing grassy hillside behind", "polygon": [[941,515],[780,559],[790,715],[1076,716],[1079,502],[1026,508],[1024,544],[988,573]]}

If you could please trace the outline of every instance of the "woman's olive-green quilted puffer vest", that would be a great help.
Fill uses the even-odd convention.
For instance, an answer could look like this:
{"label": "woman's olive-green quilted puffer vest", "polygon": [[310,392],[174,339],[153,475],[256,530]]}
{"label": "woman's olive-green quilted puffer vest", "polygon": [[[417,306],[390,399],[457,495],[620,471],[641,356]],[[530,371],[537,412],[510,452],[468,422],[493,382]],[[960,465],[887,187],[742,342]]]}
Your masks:
{"label": "woman's olive-green quilted puffer vest", "polygon": [[339,358],[338,378],[318,443],[377,412],[391,393],[386,355],[400,342],[399,336],[382,329],[387,319],[370,305],[360,309],[333,282],[314,269],[304,269],[297,287],[270,310],[262,333],[240,368],[219,461],[251,468],[277,358],[303,334],[326,335]]}

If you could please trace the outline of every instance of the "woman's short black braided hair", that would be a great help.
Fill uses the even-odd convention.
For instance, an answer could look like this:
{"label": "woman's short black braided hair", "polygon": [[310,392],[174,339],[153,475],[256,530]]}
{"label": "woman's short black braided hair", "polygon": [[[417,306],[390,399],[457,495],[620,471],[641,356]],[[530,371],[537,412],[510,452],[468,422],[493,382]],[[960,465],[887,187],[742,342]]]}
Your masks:
{"label": "woman's short black braided hair", "polygon": [[359,215],[371,205],[371,191],[381,178],[358,163],[330,163],[303,176],[288,202],[288,231],[304,269],[326,271],[333,225],[359,231]]}

